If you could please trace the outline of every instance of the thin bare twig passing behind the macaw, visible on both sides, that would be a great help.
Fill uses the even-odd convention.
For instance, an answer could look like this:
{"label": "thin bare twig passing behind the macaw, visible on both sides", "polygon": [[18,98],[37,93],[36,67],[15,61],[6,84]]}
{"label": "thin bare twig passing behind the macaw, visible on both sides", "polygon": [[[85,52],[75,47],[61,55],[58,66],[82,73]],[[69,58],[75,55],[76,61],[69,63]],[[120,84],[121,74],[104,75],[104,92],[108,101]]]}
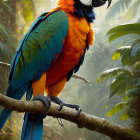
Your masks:
{"label": "thin bare twig passing behind the macaw, visible on both sides", "polygon": [[[0,62],[0,67],[10,68],[10,64],[4,63],[4,62]],[[80,75],[75,75],[75,74],[73,74],[73,75],[72,75],[72,78],[80,79],[80,80],[84,81],[85,83],[90,84],[90,81],[88,81],[86,78],[84,78],[84,77],[82,77],[82,76],[80,76]]]}

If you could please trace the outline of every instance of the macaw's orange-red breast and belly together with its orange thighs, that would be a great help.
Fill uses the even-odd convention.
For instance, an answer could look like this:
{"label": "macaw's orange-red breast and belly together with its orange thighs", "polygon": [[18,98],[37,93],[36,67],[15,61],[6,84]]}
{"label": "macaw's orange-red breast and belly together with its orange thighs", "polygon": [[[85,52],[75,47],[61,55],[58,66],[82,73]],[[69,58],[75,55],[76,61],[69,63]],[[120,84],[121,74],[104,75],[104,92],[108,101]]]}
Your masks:
{"label": "macaw's orange-red breast and belly together with its orange thighs", "polygon": [[[94,32],[91,24],[85,18],[75,17],[69,13],[67,15],[69,31],[64,40],[62,52],[41,79],[33,82],[35,96],[43,90],[46,90],[48,95],[58,96],[65,86],[67,74],[79,63],[86,47],[93,44]],[[43,80],[46,84],[43,84]],[[38,87],[39,85],[41,88]],[[39,91],[39,89],[42,90]]]}

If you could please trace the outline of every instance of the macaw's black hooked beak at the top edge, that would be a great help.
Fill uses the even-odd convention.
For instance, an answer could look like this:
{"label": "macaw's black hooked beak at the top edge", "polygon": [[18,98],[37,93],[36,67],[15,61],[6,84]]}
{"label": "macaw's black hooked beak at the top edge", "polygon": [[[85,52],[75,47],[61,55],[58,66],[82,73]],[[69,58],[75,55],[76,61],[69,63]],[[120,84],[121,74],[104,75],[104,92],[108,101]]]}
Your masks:
{"label": "macaw's black hooked beak at the top edge", "polygon": [[92,6],[93,7],[100,7],[104,5],[108,1],[108,6],[107,8],[111,5],[112,0],[92,0]]}

